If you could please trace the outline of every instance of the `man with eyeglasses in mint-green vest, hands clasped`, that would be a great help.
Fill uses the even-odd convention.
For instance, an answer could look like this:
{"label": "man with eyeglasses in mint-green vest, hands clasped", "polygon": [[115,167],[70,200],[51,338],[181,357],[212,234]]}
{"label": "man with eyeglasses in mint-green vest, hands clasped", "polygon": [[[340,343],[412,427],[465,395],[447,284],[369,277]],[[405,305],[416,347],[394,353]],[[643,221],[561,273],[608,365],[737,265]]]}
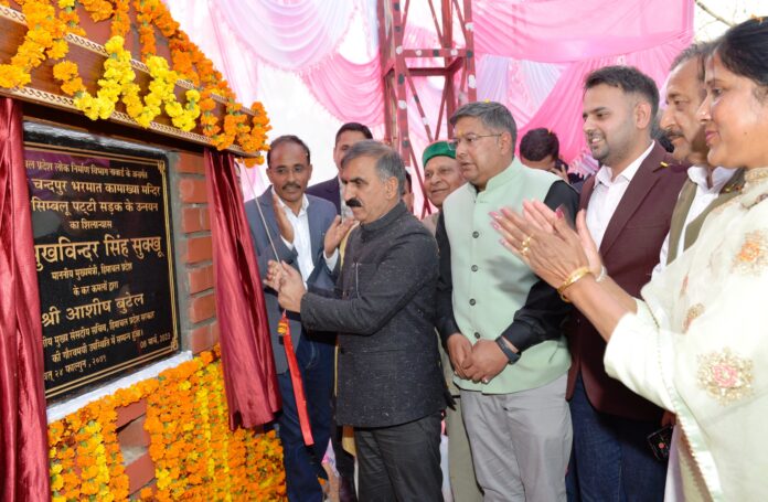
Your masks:
{"label": "man with eyeglasses in mint-green vest, hands clasped", "polygon": [[471,103],[450,119],[467,184],[442,204],[437,327],[460,389],[486,501],[565,501],[572,427],[570,365],[557,291],[499,244],[493,214],[544,201],[573,217],[578,195],[514,158],[516,126],[499,103]]}

